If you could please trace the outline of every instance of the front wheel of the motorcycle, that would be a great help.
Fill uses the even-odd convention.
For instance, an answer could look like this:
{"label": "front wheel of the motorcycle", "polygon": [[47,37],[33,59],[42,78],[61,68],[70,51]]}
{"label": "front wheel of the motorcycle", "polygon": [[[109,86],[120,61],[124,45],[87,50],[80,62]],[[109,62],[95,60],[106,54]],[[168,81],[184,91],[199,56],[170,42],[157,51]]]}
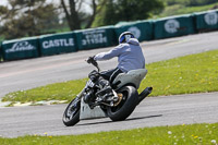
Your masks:
{"label": "front wheel of the motorcycle", "polygon": [[63,113],[63,124],[66,126],[75,125],[80,121],[81,100],[73,99]]}

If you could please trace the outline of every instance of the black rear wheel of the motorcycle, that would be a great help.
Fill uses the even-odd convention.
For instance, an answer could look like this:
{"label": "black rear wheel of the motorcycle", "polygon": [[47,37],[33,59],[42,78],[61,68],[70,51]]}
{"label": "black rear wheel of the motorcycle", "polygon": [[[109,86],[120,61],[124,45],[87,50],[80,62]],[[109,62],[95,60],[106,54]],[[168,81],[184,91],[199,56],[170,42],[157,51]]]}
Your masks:
{"label": "black rear wheel of the motorcycle", "polygon": [[112,121],[122,121],[134,111],[138,101],[138,94],[133,86],[124,86],[117,93],[122,94],[122,100],[116,107],[108,107],[107,114]]}

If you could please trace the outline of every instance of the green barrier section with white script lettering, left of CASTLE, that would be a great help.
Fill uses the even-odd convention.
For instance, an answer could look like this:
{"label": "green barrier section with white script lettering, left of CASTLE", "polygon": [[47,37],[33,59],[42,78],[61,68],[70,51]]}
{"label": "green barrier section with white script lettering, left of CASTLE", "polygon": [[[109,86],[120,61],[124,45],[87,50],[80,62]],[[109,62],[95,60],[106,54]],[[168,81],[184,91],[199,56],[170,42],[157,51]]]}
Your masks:
{"label": "green barrier section with white script lettering, left of CASTLE", "polygon": [[38,57],[38,37],[28,37],[2,43],[3,60]]}

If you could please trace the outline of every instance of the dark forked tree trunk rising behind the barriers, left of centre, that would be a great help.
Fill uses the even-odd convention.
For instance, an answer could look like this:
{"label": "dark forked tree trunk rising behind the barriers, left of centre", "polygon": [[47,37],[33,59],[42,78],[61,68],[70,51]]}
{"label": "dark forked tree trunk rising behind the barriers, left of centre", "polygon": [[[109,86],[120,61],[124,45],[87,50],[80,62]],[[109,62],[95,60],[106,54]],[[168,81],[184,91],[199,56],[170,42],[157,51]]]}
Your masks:
{"label": "dark forked tree trunk rising behind the barriers, left of centre", "polygon": [[[96,14],[101,11],[101,9],[97,9],[97,7],[106,3],[107,0],[89,0],[89,3],[84,0],[68,0],[68,4],[64,0],[60,1],[68,20],[69,27],[71,31],[74,31],[81,29],[84,22],[84,28],[89,28],[95,20]],[[93,10],[90,14],[82,12],[82,7],[84,4],[88,5],[89,9]]]}

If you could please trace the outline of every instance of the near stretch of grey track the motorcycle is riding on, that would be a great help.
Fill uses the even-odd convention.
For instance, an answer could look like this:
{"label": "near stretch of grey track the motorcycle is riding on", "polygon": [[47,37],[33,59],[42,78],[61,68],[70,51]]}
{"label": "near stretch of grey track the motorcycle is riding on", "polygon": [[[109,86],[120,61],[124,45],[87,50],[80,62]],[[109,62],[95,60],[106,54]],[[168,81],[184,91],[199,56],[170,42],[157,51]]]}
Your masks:
{"label": "near stretch of grey track the motorcycle is riding on", "polygon": [[125,121],[82,120],[75,126],[62,123],[66,105],[0,109],[0,135],[66,135],[143,126],[217,122],[218,93],[146,98]]}

